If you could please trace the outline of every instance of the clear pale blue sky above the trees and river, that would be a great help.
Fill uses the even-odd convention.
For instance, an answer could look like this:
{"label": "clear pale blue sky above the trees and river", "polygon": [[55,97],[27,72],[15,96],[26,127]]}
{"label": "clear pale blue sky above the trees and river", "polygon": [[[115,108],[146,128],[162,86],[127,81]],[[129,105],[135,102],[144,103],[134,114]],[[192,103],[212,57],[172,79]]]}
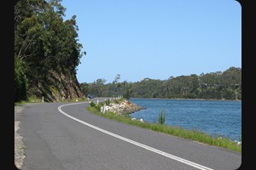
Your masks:
{"label": "clear pale blue sky above the trees and river", "polygon": [[81,82],[200,75],[241,67],[241,5],[235,0],[63,0],[86,51]]}

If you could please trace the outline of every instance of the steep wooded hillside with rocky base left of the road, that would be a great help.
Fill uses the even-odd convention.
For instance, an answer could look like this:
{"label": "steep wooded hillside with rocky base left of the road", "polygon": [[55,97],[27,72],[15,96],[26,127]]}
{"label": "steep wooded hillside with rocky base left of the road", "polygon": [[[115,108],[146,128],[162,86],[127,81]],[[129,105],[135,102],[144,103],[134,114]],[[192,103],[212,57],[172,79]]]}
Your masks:
{"label": "steep wooded hillside with rocky base left of the road", "polygon": [[15,3],[15,101],[84,97],[77,81],[82,44],[76,16],[63,20],[60,0]]}

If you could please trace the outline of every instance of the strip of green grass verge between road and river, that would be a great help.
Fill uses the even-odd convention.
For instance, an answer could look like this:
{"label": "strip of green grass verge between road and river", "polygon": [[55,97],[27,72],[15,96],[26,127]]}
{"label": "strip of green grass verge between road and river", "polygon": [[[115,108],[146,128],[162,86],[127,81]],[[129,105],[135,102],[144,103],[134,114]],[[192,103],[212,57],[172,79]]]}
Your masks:
{"label": "strip of green grass verge between road and river", "polygon": [[183,139],[191,139],[197,142],[201,142],[203,144],[209,144],[213,146],[222,147],[228,150],[235,150],[241,152],[241,144],[236,144],[235,141],[227,139],[227,138],[219,138],[219,137],[212,137],[207,133],[203,133],[197,130],[187,130],[182,127],[172,127],[166,124],[160,123],[149,123],[149,122],[140,122],[140,121],[133,121],[129,114],[119,115],[113,112],[102,112],[99,110],[102,103],[88,107],[87,110],[91,113],[94,113],[98,116],[103,116],[108,119],[112,119],[119,122],[125,122],[127,124],[135,125],[137,127],[147,128],[159,133],[166,133],[173,136],[181,137]]}

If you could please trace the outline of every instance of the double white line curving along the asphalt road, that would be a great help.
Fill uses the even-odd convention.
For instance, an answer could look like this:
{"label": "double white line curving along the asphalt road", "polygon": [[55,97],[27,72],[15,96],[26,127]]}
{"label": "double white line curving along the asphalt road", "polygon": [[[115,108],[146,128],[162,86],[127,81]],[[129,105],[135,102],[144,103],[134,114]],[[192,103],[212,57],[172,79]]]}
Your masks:
{"label": "double white line curving along the asphalt road", "polygon": [[[84,104],[84,103],[88,103],[88,102],[79,102],[79,103],[72,103],[72,104],[66,104],[66,105],[78,105],[78,104]],[[73,117],[73,116],[68,115],[67,113],[65,113],[64,111],[61,110],[61,107],[62,107],[62,106],[66,106],[66,105],[60,105],[60,106],[58,107],[58,110],[59,110],[63,115],[68,116],[69,118],[73,119],[74,121],[80,122],[80,123],[82,123],[82,124],[84,124],[84,125],[86,125],[86,126],[88,126],[88,127],[94,128],[94,129],[96,129],[96,130],[98,130],[98,131],[100,131],[100,132],[102,132],[102,133],[106,133],[106,134],[108,134],[108,135],[110,135],[110,136],[113,136],[113,137],[115,137],[115,138],[117,138],[117,139],[124,140],[125,142],[128,142],[128,143],[130,143],[130,144],[135,144],[135,145],[137,145],[137,146],[139,146],[139,147],[142,147],[142,148],[144,148],[144,149],[146,149],[146,150],[150,150],[150,151],[153,151],[154,153],[160,154],[160,155],[162,155],[162,156],[166,156],[166,157],[169,157],[169,158],[171,158],[171,159],[173,159],[173,160],[183,162],[183,163],[185,163],[185,164],[187,164],[187,165],[189,165],[189,166],[191,166],[191,167],[196,167],[196,168],[201,169],[201,170],[213,170],[213,169],[210,168],[210,167],[205,167],[205,166],[202,166],[202,165],[200,165],[200,164],[197,164],[197,163],[195,163],[195,162],[193,162],[193,161],[188,161],[188,160],[185,160],[185,159],[183,159],[183,158],[181,158],[181,157],[173,156],[173,155],[168,154],[168,153],[166,153],[166,152],[164,152],[164,151],[154,149],[154,148],[152,148],[152,147],[150,147],[150,146],[148,146],[148,145],[140,144],[140,143],[138,143],[138,142],[136,142],[136,141],[134,141],[134,140],[126,139],[125,137],[119,136],[118,134],[108,132],[107,130],[104,130],[104,129],[100,128],[100,127],[96,127],[96,126],[94,126],[94,125],[91,125],[91,124],[88,123],[88,122],[81,121],[81,120],[79,120],[79,119],[77,119],[77,118],[75,118],[75,117]]]}

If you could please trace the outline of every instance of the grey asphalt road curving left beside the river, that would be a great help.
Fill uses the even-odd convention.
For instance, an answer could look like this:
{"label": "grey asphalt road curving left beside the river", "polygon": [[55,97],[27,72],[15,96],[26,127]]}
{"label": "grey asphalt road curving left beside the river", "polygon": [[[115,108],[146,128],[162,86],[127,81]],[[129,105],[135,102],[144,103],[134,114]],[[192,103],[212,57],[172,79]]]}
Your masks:
{"label": "grey asphalt road curving left beside the river", "polygon": [[235,170],[241,153],[108,120],[88,103],[42,103],[18,121],[24,139],[22,170]]}

